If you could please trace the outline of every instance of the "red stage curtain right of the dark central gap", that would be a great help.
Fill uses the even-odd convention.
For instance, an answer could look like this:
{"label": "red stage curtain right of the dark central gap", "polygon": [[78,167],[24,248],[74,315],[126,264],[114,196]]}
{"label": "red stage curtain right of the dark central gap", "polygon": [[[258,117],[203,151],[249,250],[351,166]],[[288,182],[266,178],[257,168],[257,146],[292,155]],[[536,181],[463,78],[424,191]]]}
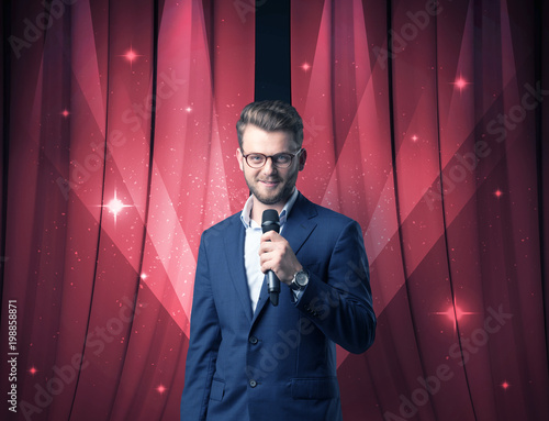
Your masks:
{"label": "red stage curtain right of the dark central gap", "polygon": [[292,3],[293,99],[324,129],[300,188],[361,223],[380,318],[338,350],[348,419],[549,413],[538,12]]}

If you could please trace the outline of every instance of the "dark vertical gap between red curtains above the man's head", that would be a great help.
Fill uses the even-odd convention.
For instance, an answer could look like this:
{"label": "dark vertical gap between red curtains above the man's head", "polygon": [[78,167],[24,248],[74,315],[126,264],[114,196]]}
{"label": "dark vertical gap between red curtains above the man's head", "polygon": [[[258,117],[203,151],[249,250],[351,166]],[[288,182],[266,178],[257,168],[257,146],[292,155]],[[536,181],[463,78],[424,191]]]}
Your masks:
{"label": "dark vertical gap between red curtains above the man's head", "polygon": [[291,103],[290,62],[290,0],[256,1],[256,101]]}

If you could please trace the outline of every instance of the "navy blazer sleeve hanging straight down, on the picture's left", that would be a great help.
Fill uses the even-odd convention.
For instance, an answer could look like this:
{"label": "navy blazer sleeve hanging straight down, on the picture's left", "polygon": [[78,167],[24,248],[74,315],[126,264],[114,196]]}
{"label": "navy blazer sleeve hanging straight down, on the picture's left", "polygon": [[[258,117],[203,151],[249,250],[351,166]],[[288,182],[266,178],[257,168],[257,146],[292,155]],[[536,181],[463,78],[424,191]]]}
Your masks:
{"label": "navy blazer sleeve hanging straight down, on the picture's left", "polygon": [[221,330],[212,293],[205,235],[206,232],[204,232],[200,242],[194,278],[191,333],[187,352],[184,387],[181,396],[181,421],[205,420],[221,343]]}

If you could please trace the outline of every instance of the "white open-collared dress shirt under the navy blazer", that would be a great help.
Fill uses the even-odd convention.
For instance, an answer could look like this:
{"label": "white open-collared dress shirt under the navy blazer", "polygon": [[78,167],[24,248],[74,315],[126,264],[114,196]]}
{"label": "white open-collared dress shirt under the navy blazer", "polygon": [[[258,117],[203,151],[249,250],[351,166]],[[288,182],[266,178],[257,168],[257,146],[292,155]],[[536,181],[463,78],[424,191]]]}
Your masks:
{"label": "white open-collared dress shirt under the navy blazer", "polygon": [[[292,210],[295,200],[298,199],[299,191],[296,188],[293,189],[292,196],[284,204],[282,212],[280,212],[280,234],[284,229],[288,214]],[[246,278],[248,281],[249,299],[251,302],[251,312],[256,311],[257,301],[259,300],[259,292],[261,291],[261,286],[265,281],[265,274],[261,272],[259,264],[259,239],[262,235],[261,225],[254,221],[251,215],[251,208],[254,206],[254,198],[250,196],[244,204],[244,209],[240,213],[240,220],[246,229],[246,236],[244,240],[244,266],[246,267]],[[294,291],[300,292],[300,291]],[[295,298],[299,298],[301,293],[295,293]]]}

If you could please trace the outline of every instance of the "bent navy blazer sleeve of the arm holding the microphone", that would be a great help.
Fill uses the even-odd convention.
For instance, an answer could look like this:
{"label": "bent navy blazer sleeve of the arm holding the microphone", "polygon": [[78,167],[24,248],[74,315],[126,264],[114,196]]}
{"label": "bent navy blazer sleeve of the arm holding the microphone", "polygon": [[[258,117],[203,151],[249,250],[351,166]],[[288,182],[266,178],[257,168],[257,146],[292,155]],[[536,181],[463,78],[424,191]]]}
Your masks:
{"label": "bent navy blazer sleeve of the arm holding the microphone", "polygon": [[377,320],[362,232],[356,221],[349,220],[341,230],[326,273],[310,274],[295,306],[345,350],[360,354],[371,346]]}

